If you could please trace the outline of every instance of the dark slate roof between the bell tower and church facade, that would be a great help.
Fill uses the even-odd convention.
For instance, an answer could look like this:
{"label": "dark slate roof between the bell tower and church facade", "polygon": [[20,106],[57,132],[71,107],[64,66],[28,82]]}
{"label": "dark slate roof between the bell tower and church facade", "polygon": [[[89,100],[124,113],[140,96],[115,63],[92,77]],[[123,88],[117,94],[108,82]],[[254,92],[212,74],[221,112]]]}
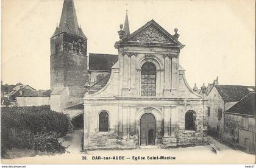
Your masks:
{"label": "dark slate roof between the bell tower and church facade", "polygon": [[89,70],[111,71],[117,61],[118,55],[89,53]]}

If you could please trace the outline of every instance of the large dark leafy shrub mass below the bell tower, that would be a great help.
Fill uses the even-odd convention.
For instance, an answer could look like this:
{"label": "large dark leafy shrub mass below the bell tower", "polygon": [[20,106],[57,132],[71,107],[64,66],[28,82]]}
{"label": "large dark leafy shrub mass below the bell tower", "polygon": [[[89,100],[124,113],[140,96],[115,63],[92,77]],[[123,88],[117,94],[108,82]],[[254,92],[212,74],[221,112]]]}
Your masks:
{"label": "large dark leafy shrub mass below the bell tower", "polygon": [[58,139],[70,128],[69,117],[49,106],[1,108],[1,156],[12,149],[63,153]]}

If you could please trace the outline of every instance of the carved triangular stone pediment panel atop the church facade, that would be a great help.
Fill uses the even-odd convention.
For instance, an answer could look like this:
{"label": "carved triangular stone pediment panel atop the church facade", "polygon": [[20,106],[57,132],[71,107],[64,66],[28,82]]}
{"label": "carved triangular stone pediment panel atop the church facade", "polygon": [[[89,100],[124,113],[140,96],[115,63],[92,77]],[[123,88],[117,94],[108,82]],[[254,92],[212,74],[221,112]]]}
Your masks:
{"label": "carved triangular stone pediment panel atop the church facade", "polygon": [[142,42],[142,43],[169,43],[172,41],[163,32],[161,32],[153,24],[141,30],[137,35],[130,38],[129,41]]}

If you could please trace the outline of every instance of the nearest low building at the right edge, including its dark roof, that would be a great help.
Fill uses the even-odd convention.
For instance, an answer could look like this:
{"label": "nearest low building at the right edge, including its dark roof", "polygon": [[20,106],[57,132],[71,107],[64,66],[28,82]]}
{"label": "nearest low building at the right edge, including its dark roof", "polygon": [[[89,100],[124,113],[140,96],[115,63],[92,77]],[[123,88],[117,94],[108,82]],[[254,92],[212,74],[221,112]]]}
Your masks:
{"label": "nearest low building at the right edge, including its dark roof", "polygon": [[255,153],[255,93],[247,94],[224,112],[224,141]]}

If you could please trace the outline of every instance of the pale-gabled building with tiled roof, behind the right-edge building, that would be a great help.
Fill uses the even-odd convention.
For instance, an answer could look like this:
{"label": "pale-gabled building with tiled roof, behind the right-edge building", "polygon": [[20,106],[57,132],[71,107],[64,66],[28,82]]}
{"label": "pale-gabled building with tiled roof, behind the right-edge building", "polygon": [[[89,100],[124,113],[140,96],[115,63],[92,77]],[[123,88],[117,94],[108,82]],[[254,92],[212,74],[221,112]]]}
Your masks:
{"label": "pale-gabled building with tiled roof, behind the right-edge building", "polygon": [[229,110],[244,96],[255,92],[255,86],[215,85],[208,99],[208,135],[224,142],[224,111]]}

